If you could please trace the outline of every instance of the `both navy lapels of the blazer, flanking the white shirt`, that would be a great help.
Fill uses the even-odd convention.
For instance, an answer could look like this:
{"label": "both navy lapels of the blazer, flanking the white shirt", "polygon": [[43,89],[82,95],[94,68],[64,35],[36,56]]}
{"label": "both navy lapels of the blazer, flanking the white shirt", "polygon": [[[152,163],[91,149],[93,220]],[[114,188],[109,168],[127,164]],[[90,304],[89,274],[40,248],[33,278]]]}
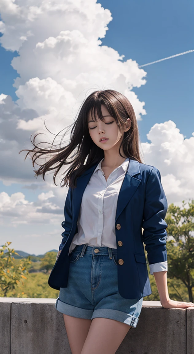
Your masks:
{"label": "both navy lapels of the blazer, flanking the white shirt", "polygon": [[[78,215],[80,212],[81,201],[83,192],[92,176],[92,173],[98,162],[86,170],[83,175],[77,178],[77,188],[72,189],[72,212],[73,212],[73,223],[78,219]],[[141,173],[139,162],[136,160],[129,160],[128,169],[125,174],[122,186],[120,188],[120,192],[118,195],[117,201],[117,210],[116,210],[116,219],[119,217],[120,213],[123,211],[124,207],[130,201],[132,196],[134,195],[137,187],[139,186],[141,180],[135,178],[134,176]]]}

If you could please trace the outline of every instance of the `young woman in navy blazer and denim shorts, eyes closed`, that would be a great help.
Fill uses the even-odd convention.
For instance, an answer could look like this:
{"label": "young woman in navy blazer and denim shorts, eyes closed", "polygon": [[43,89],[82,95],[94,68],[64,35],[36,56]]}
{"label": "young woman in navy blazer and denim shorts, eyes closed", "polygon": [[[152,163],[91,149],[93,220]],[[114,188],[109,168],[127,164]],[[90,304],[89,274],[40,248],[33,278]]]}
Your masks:
{"label": "young woman in navy blazer and denim shorts, eyes closed", "polygon": [[137,326],[143,297],[152,293],[143,242],[161,305],[194,306],[169,298],[167,200],[159,170],[140,158],[128,99],[95,91],[83,102],[68,145],[41,149],[35,138],[33,145],[33,166],[37,157],[54,154],[37,176],[55,170],[55,183],[70,164],[62,185],[69,187],[65,231],[48,284],[59,290],[55,308],[64,315],[72,354],[114,354]]}

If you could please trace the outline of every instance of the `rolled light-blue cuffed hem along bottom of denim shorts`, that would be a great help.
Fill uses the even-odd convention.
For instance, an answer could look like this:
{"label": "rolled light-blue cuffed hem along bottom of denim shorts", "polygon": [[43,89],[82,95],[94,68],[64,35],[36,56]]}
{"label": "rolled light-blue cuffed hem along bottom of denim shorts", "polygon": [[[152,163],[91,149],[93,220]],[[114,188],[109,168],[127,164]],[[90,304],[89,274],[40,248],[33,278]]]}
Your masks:
{"label": "rolled light-blue cuffed hem along bottom of denim shorts", "polygon": [[105,309],[105,308],[96,309],[96,310],[87,310],[87,309],[82,309],[80,307],[67,304],[63,301],[60,301],[59,298],[57,298],[57,301],[55,303],[55,309],[57,309],[59,312],[64,313],[65,315],[88,319],[88,320],[90,319],[93,320],[94,318],[99,318],[99,317],[108,318],[111,320],[123,322],[134,328],[137,326],[137,322],[139,321],[139,318],[136,318],[135,316],[132,316],[128,313],[119,310]]}

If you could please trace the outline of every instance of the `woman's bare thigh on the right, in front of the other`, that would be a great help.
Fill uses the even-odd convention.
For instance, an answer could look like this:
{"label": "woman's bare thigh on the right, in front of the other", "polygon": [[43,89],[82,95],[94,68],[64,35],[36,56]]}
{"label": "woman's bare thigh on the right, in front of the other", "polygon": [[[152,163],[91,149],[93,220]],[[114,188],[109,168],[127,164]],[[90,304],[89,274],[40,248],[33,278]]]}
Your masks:
{"label": "woman's bare thigh on the right, in front of the other", "polygon": [[131,326],[108,318],[94,318],[81,354],[115,354]]}

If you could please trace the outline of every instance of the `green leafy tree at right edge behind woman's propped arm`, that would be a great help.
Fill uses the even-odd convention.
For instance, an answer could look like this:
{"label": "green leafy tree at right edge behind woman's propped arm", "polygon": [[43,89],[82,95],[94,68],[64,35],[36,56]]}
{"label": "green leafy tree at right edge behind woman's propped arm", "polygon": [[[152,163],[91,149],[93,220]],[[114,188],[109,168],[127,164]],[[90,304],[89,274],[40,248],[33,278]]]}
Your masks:
{"label": "green leafy tree at right edge behind woman's propped arm", "polygon": [[[168,277],[180,279],[187,287],[189,302],[193,302],[194,287],[194,199],[182,201],[182,208],[169,205],[165,221],[167,234],[174,239],[167,241]],[[178,289],[176,289],[178,293]]]}

